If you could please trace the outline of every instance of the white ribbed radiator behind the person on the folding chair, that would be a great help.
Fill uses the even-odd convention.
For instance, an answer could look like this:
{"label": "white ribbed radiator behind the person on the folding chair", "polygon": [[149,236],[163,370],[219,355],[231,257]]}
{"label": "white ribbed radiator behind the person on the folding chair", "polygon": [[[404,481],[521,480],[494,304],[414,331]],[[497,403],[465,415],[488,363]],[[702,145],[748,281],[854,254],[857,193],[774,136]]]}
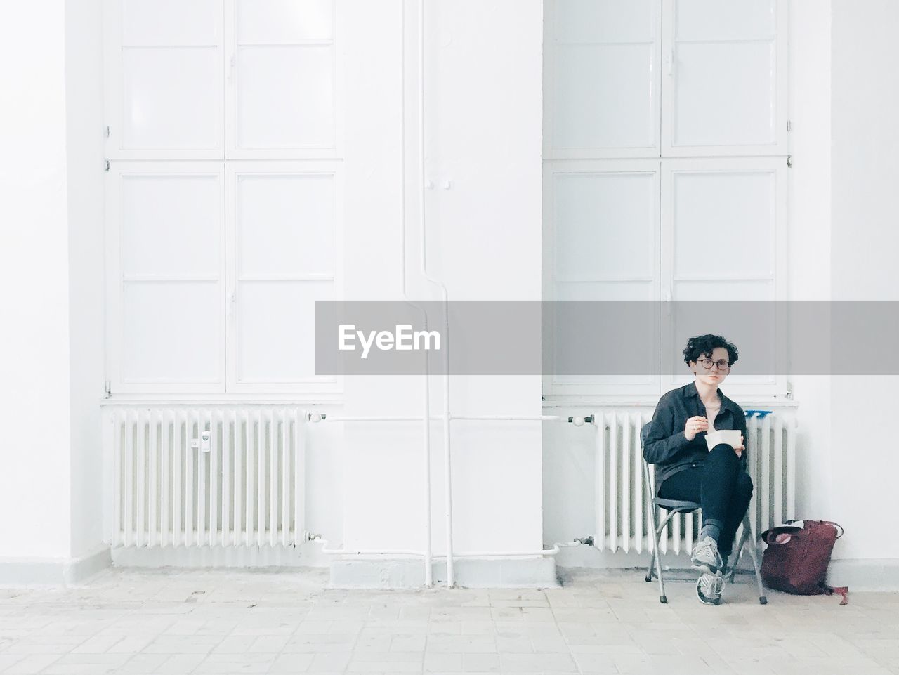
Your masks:
{"label": "white ribbed radiator behind the person on the folding chair", "polygon": [[[593,543],[601,551],[652,550],[640,448],[640,430],[651,419],[650,413],[632,411],[594,415],[597,531]],[[746,432],[747,469],[754,486],[749,514],[758,535],[785,519],[796,518],[796,422],[778,413],[761,418],[755,413],[746,419]],[[660,522],[667,511],[661,514]],[[660,548],[663,552],[689,552],[697,534],[699,513],[674,516],[663,529]]]}

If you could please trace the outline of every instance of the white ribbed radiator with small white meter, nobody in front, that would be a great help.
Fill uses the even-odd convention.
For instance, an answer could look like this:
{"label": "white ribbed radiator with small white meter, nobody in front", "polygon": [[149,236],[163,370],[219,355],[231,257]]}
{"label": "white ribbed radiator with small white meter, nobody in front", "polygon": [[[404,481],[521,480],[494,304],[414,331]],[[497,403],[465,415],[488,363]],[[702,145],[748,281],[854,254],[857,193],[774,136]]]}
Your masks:
{"label": "white ribbed radiator with small white meter, nobody in front", "polygon": [[122,406],[106,414],[112,546],[300,543],[299,408]]}

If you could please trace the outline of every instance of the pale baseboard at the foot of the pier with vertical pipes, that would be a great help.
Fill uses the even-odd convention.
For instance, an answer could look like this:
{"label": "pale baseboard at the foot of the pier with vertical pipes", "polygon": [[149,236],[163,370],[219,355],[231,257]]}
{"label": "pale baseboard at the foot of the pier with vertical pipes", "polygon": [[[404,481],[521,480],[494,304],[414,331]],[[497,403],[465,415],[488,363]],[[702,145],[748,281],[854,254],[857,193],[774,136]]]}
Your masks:
{"label": "pale baseboard at the foot of the pier with vertical pipes", "polygon": [[[432,564],[434,586],[446,585],[446,561]],[[460,588],[557,589],[556,562],[551,557],[512,559],[460,558],[453,562],[454,584]],[[331,589],[420,589],[421,559],[358,556],[331,564]]]}

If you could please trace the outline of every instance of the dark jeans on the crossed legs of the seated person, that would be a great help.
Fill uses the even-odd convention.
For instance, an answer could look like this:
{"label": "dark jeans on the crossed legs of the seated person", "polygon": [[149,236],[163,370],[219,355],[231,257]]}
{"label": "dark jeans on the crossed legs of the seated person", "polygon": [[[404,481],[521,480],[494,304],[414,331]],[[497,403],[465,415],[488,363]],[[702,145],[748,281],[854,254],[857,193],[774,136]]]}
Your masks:
{"label": "dark jeans on the crossed legs of the seated person", "polygon": [[668,476],[659,485],[658,493],[662,499],[699,502],[703,524],[715,521],[721,529],[718,551],[728,555],[752,498],[752,478],[743,471],[734,449],[720,443],[697,466]]}

